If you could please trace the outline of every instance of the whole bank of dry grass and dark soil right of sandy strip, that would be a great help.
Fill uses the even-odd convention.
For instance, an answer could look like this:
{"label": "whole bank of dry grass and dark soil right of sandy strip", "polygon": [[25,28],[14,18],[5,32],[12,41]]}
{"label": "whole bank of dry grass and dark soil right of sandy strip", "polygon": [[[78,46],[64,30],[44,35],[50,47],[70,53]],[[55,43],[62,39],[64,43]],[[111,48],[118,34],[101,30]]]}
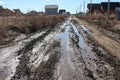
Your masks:
{"label": "whole bank of dry grass and dark soil right of sandy strip", "polygon": [[120,21],[106,19],[104,16],[77,16],[79,19],[86,21],[89,25],[97,27],[102,34],[112,38],[120,43]]}

